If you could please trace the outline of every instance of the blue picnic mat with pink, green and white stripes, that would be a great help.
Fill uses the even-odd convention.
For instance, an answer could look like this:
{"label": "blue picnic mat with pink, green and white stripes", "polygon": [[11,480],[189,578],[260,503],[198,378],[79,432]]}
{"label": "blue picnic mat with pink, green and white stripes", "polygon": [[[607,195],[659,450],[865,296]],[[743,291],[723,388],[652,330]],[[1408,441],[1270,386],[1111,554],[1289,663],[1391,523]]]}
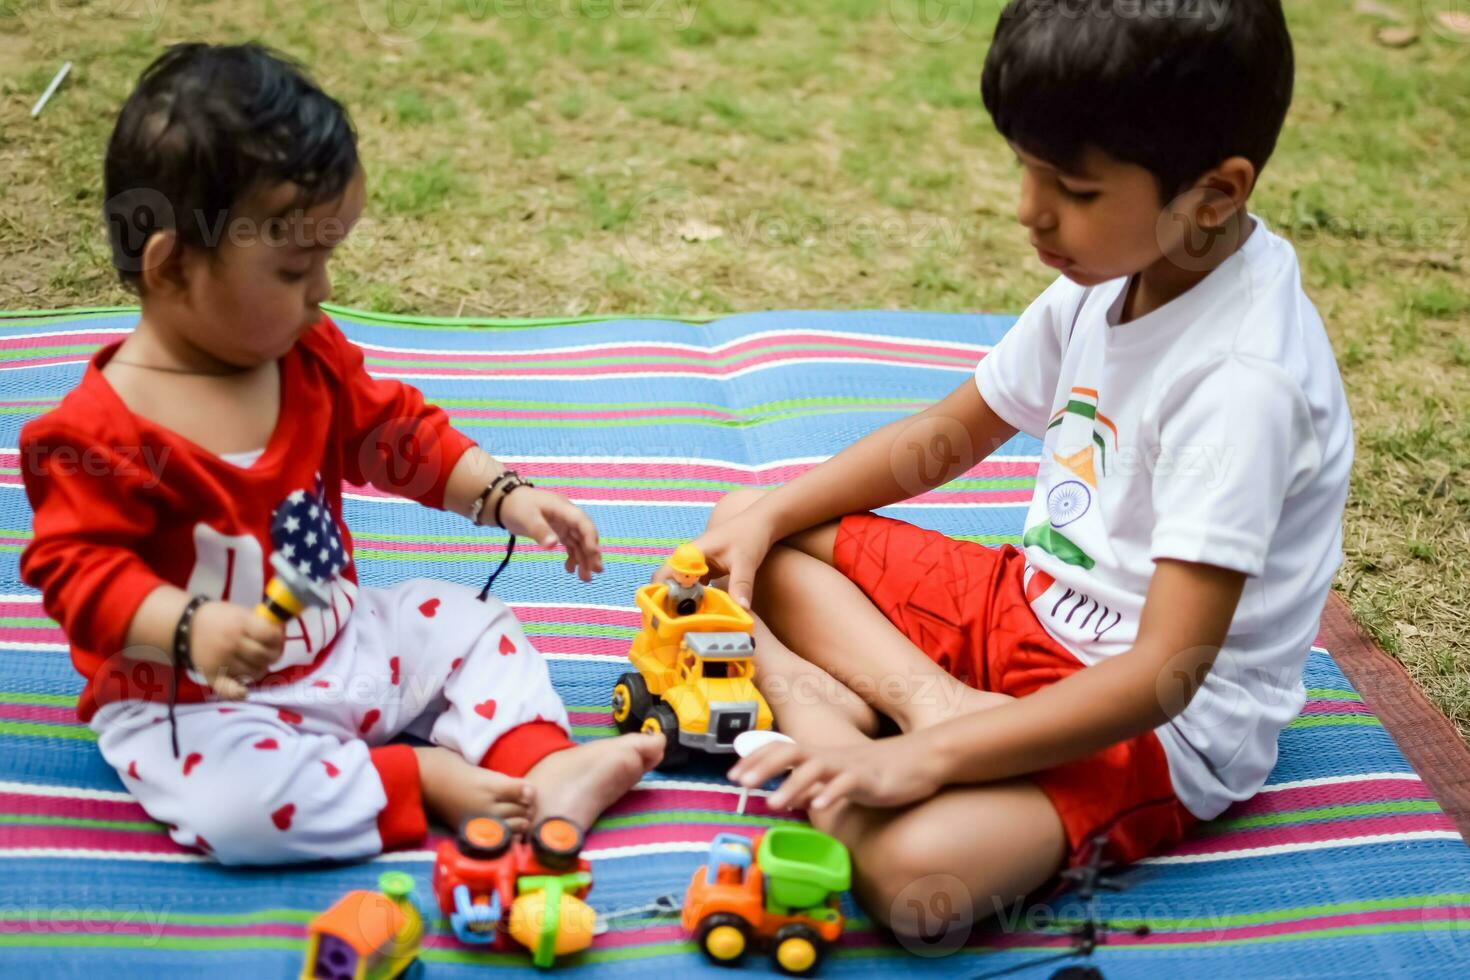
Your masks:
{"label": "blue picnic mat with pink, green and white stripes", "polygon": [[[295,870],[225,870],[175,846],[76,724],[79,683],[63,636],[16,573],[31,526],[19,428],[134,320],[126,310],[0,316],[0,974],[294,976],[304,923],[344,890],[372,887],[392,867],[426,895],[437,839],[376,862]],[[634,589],[703,527],[720,494],[789,479],[933,401],[1011,323],[911,313],[338,320],[373,373],[419,385],[488,450],[595,517],[607,573],[594,585],[526,550],[500,588],[550,660],[579,739],[612,732],[606,705],[637,626]],[[973,541],[1016,541],[1038,448],[1017,438],[892,513]],[[345,519],[366,585],[420,574],[479,585],[504,547],[495,532],[370,491],[350,491]],[[1110,977],[1470,974],[1470,849],[1327,651],[1313,651],[1305,683],[1310,701],[1282,733],[1266,790],[1105,895],[1108,918],[1152,930],[1114,936],[1095,954]],[[720,830],[792,818],[759,798],[736,817],[719,773],[648,779],[607,814],[589,842],[598,908],[681,890]],[[1055,926],[1079,914],[1064,898],[975,930],[945,955],[906,952],[858,917],[823,973],[975,976],[1057,952],[1066,940]],[[485,964],[529,971],[525,958],[456,945],[442,924],[423,958],[431,977]],[[707,967],[676,923],[629,918],[563,970]]]}

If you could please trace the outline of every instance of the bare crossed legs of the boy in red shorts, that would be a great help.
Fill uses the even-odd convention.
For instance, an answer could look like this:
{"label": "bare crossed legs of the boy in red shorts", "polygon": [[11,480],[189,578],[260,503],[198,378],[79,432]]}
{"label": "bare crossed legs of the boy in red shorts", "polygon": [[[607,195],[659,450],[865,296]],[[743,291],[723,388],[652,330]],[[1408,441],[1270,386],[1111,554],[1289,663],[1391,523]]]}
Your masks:
{"label": "bare crossed legs of the boy in red shorts", "polygon": [[[726,498],[711,523],[754,497]],[[756,576],[757,682],[784,732],[847,743],[876,735],[876,711],[919,727],[1010,699],[964,688],[908,642],[829,564],[833,539],[835,526],[797,535]],[[926,942],[1008,908],[1066,857],[1061,820],[1028,779],[948,788],[904,808],[839,805],[810,818],[853,852],[864,908]]]}

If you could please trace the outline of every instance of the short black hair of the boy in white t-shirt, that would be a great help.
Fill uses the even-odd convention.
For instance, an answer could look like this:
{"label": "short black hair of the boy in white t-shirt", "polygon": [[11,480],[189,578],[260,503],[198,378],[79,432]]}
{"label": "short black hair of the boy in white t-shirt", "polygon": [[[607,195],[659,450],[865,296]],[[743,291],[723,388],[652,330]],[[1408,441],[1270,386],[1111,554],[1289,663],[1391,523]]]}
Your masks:
{"label": "short black hair of the boy in white t-shirt", "polygon": [[1266,166],[1292,94],[1280,0],[1011,0],[980,78],[1001,135],[1075,169],[1086,147],[1163,201],[1232,156]]}

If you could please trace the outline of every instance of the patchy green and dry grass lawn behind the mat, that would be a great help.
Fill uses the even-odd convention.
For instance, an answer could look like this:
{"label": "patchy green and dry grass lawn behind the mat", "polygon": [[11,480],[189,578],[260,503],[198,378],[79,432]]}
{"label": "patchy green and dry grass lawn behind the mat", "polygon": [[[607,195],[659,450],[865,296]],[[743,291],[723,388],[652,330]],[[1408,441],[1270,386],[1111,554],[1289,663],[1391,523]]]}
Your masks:
{"label": "patchy green and dry grass lawn behind the mat", "polygon": [[[1338,588],[1470,736],[1470,38],[1429,16],[1454,0],[1386,3],[1416,43],[1289,0],[1297,100],[1252,210],[1297,242],[1352,400]],[[0,0],[0,307],[131,303],[98,217],[116,109],[165,44],[260,38],[362,131],[335,301],[1019,311],[1051,276],[979,100],[1000,6]]]}

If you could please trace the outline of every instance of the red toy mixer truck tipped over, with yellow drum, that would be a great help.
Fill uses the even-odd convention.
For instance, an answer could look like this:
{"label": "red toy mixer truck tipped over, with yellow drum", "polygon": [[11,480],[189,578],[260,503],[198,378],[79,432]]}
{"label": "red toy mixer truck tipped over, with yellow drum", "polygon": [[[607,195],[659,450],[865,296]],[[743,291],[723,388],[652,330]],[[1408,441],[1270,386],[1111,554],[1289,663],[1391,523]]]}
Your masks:
{"label": "red toy mixer truck tipped over, with yellow drum", "polygon": [[514,940],[544,968],[592,943],[595,912],[584,901],[592,867],[570,820],[547,817],[529,837],[497,817],[470,817],[440,845],[434,895],[460,942],[509,951]]}

